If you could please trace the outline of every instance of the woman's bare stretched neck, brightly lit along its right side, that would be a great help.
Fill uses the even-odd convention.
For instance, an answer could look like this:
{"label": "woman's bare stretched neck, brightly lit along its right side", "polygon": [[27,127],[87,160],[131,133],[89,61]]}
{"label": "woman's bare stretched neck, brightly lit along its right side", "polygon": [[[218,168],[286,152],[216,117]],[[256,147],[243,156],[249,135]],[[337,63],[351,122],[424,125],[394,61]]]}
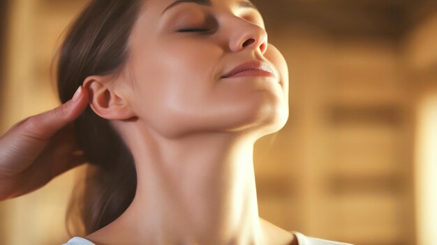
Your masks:
{"label": "woman's bare stretched neck, brightly lit along its right side", "polygon": [[169,140],[129,130],[137,192],[111,224],[125,244],[263,244],[254,140],[235,133]]}

